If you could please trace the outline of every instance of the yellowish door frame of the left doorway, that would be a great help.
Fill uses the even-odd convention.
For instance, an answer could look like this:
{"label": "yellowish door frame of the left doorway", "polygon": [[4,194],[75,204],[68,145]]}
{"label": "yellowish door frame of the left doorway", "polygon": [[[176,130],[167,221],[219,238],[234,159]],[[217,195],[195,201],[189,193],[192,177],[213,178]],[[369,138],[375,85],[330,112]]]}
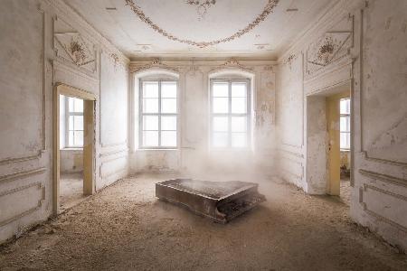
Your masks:
{"label": "yellowish door frame of the left doorway", "polygon": [[95,189],[95,131],[96,131],[96,95],[89,91],[56,83],[53,91],[53,182],[52,214],[60,213],[60,95],[83,99],[83,194],[91,195]]}

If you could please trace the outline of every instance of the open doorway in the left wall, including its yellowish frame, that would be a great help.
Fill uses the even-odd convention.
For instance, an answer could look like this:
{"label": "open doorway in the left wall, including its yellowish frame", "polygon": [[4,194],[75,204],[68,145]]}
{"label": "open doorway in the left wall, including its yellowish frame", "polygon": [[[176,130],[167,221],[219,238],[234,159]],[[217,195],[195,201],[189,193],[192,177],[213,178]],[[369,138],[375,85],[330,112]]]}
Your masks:
{"label": "open doorway in the left wall, including its yellowish frame", "polygon": [[53,214],[95,192],[94,94],[57,84],[53,96]]}

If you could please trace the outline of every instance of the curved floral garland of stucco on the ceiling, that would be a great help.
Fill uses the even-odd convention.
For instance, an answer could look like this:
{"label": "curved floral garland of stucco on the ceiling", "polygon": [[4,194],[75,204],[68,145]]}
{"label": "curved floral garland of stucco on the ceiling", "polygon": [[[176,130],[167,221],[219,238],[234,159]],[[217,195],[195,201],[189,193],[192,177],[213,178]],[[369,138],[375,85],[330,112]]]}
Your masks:
{"label": "curved floral garland of stucco on the ceiling", "polygon": [[251,23],[248,23],[248,25],[241,30],[237,31],[236,33],[233,33],[232,35],[228,37],[224,37],[219,40],[215,41],[210,41],[210,42],[197,42],[193,41],[191,39],[183,39],[176,37],[174,34],[167,32],[163,28],[161,28],[158,24],[154,23],[147,15],[144,13],[144,11],[136,5],[134,0],[125,0],[126,5],[130,7],[130,9],[137,15],[137,17],[144,23],[147,23],[149,27],[151,27],[154,31],[157,33],[162,34],[165,36],[168,40],[174,41],[174,42],[181,42],[185,43],[188,45],[194,45],[200,48],[205,48],[211,45],[216,45],[219,43],[224,43],[224,42],[232,42],[233,40],[240,38],[242,35],[246,33],[250,33],[251,30],[253,30],[255,27],[257,27],[261,22],[263,22],[269,14],[271,14],[274,11],[274,8],[278,5],[279,0],[268,0],[267,5],[264,7],[263,11],[261,14],[259,14],[255,19],[251,21]]}

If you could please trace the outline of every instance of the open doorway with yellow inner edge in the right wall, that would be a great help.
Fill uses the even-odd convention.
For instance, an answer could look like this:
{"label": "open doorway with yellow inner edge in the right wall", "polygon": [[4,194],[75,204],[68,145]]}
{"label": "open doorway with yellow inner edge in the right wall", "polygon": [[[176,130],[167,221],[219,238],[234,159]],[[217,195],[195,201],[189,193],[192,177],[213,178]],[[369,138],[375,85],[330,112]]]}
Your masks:
{"label": "open doorway with yellow inner edge in the right wall", "polygon": [[308,192],[340,197],[350,204],[352,169],[351,86],[307,96]]}

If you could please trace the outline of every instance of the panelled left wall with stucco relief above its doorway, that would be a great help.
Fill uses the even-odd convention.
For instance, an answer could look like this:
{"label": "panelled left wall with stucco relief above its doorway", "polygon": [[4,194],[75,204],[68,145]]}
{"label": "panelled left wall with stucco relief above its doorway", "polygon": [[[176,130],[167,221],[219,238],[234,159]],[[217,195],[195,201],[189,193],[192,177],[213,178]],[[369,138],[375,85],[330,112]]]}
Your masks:
{"label": "panelled left wall with stucco relief above its doorway", "polygon": [[[86,44],[85,63],[70,55],[72,38]],[[0,44],[2,242],[52,214],[56,83],[96,94],[97,190],[127,174],[128,59],[59,0],[2,1]]]}

